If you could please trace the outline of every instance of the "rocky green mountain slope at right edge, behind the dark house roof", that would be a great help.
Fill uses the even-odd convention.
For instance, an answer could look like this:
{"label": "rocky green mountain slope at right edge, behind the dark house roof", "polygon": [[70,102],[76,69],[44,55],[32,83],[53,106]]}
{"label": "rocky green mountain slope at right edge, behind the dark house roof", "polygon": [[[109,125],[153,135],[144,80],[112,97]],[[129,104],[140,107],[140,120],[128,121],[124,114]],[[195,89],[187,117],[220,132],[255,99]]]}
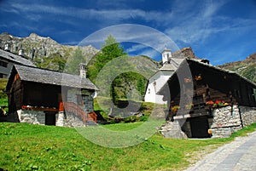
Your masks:
{"label": "rocky green mountain slope at right edge, behind the dark house roof", "polygon": [[230,62],[218,67],[236,71],[241,74],[241,76],[247,77],[249,80],[256,83],[256,53],[250,54],[246,60]]}

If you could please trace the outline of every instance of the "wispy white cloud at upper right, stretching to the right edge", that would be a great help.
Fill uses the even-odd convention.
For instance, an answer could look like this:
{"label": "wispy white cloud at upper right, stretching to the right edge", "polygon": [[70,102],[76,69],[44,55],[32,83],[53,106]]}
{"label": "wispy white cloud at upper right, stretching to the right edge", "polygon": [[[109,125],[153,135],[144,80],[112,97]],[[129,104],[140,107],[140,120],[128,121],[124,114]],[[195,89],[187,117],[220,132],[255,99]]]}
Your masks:
{"label": "wispy white cloud at upper right, stretching to the right edge", "polygon": [[219,15],[218,10],[223,7],[224,3],[226,2],[201,3],[194,11],[192,9],[195,8],[195,3],[186,3],[185,7],[177,3],[173,6],[173,15],[177,18],[177,22],[166,29],[166,34],[176,43],[203,44],[209,37],[219,32],[242,32],[252,27],[255,28],[256,20]]}

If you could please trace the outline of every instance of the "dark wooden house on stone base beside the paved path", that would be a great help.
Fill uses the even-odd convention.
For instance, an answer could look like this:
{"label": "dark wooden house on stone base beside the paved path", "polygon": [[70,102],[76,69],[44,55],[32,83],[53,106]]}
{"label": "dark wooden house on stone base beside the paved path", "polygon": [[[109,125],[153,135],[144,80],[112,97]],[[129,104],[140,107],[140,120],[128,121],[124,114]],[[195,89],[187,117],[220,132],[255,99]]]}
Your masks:
{"label": "dark wooden house on stone base beside the paved path", "polygon": [[255,89],[236,72],[185,58],[157,93],[169,109],[160,132],[179,138],[229,137],[256,122]]}

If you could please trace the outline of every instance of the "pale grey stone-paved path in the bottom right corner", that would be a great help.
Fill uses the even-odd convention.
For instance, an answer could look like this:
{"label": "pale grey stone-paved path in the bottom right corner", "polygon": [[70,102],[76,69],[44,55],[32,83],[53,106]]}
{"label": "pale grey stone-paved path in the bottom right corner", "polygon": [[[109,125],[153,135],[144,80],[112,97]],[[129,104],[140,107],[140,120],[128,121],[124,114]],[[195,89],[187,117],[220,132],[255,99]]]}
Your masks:
{"label": "pale grey stone-paved path in the bottom right corner", "polygon": [[219,147],[187,169],[192,170],[256,170],[256,132]]}

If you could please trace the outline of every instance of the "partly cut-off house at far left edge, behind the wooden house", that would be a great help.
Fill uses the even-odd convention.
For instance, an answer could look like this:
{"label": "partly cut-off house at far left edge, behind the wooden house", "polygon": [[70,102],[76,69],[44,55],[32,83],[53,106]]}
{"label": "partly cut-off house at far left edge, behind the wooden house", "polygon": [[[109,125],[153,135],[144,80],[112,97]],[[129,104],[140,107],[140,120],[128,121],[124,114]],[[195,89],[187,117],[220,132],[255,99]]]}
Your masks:
{"label": "partly cut-off house at far left edge, behind the wooden house", "polygon": [[[8,44],[7,44],[8,45]],[[32,61],[27,60],[20,49],[19,55],[9,52],[9,46],[3,50],[0,48],[0,78],[8,78],[12,67],[17,65],[35,66]]]}

